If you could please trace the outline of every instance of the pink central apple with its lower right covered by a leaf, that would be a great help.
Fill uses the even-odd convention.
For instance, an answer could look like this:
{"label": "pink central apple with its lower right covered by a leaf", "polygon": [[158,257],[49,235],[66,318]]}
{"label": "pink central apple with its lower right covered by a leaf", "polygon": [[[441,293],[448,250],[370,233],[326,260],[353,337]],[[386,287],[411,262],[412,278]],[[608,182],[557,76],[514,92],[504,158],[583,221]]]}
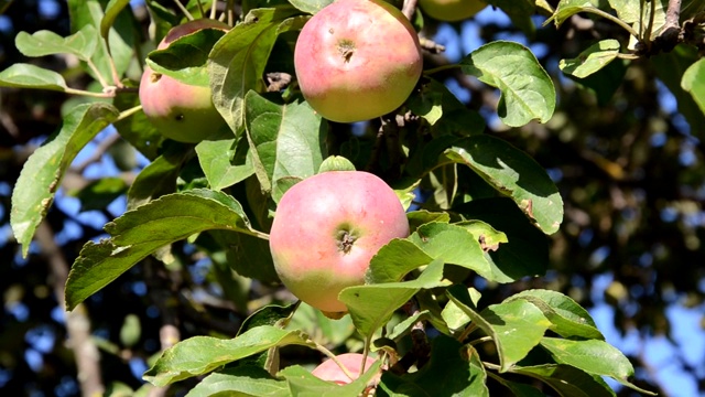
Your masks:
{"label": "pink central apple with its lower right covered by a leaf", "polygon": [[347,312],[340,290],[364,285],[372,256],[406,236],[406,214],[384,181],[364,171],[328,171],[284,193],[269,244],[283,285],[324,314],[340,318]]}

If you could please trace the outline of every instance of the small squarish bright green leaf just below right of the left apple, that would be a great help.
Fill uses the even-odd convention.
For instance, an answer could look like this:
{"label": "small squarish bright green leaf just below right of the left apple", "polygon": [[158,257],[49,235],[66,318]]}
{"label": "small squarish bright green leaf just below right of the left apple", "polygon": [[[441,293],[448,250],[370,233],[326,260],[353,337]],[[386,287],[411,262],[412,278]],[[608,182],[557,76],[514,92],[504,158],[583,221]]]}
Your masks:
{"label": "small squarish bright green leaf just below right of the left apple", "polygon": [[213,190],[223,190],[242,182],[254,173],[245,139],[221,138],[196,144],[198,163]]}

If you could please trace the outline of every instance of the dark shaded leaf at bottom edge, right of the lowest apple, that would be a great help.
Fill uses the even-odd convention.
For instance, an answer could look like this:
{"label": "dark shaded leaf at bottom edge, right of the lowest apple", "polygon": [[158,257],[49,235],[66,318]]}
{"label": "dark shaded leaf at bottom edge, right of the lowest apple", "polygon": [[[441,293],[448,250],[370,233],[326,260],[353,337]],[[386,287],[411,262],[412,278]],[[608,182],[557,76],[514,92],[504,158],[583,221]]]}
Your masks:
{"label": "dark shaded leaf at bottom edge, right of the lowest apple", "polygon": [[[462,353],[467,353],[467,356]],[[474,347],[446,335],[431,342],[431,360],[403,376],[384,373],[378,396],[489,396],[487,373]],[[443,390],[443,393],[441,393]]]}

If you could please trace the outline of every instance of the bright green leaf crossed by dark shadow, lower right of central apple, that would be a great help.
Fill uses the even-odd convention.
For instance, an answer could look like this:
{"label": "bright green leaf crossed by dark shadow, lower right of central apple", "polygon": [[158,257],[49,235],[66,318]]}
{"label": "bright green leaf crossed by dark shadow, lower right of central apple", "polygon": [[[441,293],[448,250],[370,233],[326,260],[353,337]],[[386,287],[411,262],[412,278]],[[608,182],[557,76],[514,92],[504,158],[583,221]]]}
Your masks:
{"label": "bright green leaf crossed by dark shadow, lower right of central apple", "polygon": [[465,287],[453,286],[447,289],[447,296],[473,319],[476,326],[492,337],[499,354],[500,372],[509,371],[525,357],[551,325],[541,310],[527,301],[491,304],[478,313]]}

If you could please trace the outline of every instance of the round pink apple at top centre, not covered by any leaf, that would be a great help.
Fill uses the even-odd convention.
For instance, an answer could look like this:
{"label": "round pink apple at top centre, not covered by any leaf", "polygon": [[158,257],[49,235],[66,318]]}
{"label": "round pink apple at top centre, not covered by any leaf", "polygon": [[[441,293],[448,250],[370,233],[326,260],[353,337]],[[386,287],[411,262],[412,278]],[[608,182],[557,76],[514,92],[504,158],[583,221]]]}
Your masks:
{"label": "round pink apple at top centre, not covered by any leaf", "polygon": [[294,49],[296,79],[328,120],[369,120],[400,107],[423,58],[404,14],[383,0],[338,0],[304,25]]}

